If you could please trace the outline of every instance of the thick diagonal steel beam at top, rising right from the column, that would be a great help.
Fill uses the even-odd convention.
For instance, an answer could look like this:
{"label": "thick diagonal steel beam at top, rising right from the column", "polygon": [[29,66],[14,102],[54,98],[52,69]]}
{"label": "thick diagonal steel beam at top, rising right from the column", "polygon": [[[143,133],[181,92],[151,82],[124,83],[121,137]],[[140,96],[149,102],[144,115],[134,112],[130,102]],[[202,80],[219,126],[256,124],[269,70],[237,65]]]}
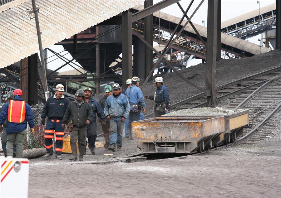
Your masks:
{"label": "thick diagonal steel beam at top, rising right from the column", "polygon": [[143,17],[146,17],[150,14],[153,14],[154,12],[161,10],[165,7],[168,7],[176,2],[179,2],[180,0],[163,0],[158,3],[155,3],[154,5],[151,5],[143,10],[140,10],[139,12],[136,12],[132,15],[132,22],[137,21]]}

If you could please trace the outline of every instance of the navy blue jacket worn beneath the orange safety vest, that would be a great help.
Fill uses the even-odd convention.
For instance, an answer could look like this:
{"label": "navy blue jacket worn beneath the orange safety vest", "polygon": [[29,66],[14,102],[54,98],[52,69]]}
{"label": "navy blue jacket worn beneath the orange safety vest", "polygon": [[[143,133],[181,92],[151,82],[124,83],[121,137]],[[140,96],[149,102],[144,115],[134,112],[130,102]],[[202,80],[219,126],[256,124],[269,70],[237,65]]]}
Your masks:
{"label": "navy blue jacket worn beneath the orange safety vest", "polygon": [[[14,98],[13,100],[20,100],[23,101],[22,98]],[[5,120],[8,117],[8,108],[9,108],[10,102],[4,104],[3,109],[0,113],[0,125],[2,125]],[[9,122],[7,120],[7,133],[17,133],[21,132],[26,129],[27,127],[27,122],[29,124],[30,128],[34,127],[34,122],[33,122],[33,112],[29,104],[25,103],[25,119],[22,123],[15,123],[15,122]]]}

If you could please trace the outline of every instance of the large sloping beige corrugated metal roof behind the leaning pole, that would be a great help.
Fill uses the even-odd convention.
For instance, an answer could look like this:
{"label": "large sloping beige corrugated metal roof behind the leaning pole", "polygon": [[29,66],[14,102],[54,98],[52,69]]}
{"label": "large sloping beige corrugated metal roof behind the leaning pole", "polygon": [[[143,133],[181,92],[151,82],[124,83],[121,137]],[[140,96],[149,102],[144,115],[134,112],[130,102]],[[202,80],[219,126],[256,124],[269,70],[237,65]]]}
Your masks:
{"label": "large sloping beige corrugated metal roof behind the leaning pole", "polygon": [[[47,48],[144,0],[36,0],[42,46]],[[0,6],[0,68],[39,51],[31,0]],[[30,19],[30,20],[29,20]]]}

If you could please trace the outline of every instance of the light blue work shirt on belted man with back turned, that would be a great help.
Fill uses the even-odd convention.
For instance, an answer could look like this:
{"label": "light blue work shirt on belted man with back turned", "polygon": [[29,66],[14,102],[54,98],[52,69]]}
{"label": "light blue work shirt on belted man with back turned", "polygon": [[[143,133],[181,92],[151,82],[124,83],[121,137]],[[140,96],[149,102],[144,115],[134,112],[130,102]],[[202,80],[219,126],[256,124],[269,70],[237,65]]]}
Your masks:
{"label": "light blue work shirt on belted man with back turned", "polygon": [[139,87],[131,85],[131,87],[126,90],[126,96],[130,104],[141,104],[142,108],[145,109],[144,97]]}

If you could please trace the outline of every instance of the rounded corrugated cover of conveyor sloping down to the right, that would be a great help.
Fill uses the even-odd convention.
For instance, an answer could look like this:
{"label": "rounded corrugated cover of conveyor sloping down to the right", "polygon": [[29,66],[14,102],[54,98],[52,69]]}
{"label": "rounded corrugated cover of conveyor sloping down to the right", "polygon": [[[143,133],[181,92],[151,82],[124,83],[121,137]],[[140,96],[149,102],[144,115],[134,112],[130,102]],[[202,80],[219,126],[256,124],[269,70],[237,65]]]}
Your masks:
{"label": "rounded corrugated cover of conveyor sloping down to the right", "polygon": [[[133,9],[142,10],[142,9],[144,9],[144,6],[143,5],[137,5],[137,6],[133,7]],[[170,14],[166,14],[164,12],[158,12],[158,11],[153,13],[153,16],[155,16],[155,17],[159,17],[159,15],[160,15],[161,19],[164,19],[166,21],[170,21],[170,22],[173,22],[175,24],[178,24],[180,22],[179,17],[175,17],[175,16],[172,16]],[[183,20],[181,25],[184,25],[185,23],[186,23],[186,20]],[[196,23],[193,23],[193,25],[195,26],[195,28],[197,29],[197,31],[199,32],[199,34],[201,36],[207,38],[207,27],[200,26]],[[196,34],[196,32],[193,30],[193,28],[190,25],[187,25],[185,27],[185,31]],[[228,34],[224,34],[224,33],[221,33],[221,43],[223,43],[227,46],[231,46],[231,47],[240,49],[242,51],[249,52],[249,53],[254,54],[254,55],[258,55],[260,53],[263,54],[263,53],[271,51],[269,48],[266,48],[266,47],[260,48],[259,45],[256,45],[256,44],[251,43],[249,41],[245,41],[243,39],[240,39],[240,38],[228,35]]]}

